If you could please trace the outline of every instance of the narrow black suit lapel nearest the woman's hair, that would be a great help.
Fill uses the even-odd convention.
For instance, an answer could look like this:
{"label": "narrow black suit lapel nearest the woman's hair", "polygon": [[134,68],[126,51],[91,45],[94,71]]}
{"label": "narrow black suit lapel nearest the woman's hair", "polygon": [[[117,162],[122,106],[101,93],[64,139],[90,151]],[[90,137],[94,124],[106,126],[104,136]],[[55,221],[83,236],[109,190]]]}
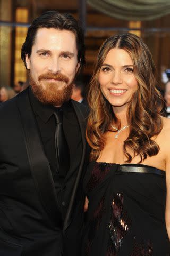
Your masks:
{"label": "narrow black suit lapel nearest the woman's hair", "polygon": [[[85,153],[86,153],[84,116],[82,114],[82,111],[80,110],[80,108],[78,107],[78,105],[74,101],[72,101],[72,105],[73,105],[75,114],[77,115],[78,123],[79,123],[79,127],[80,127],[81,140],[82,140],[82,155],[81,155],[81,161],[80,161],[80,164],[79,164],[78,174],[77,174],[77,177],[75,179],[74,187],[73,187],[73,190],[72,190],[71,199],[70,199],[70,202],[69,202],[69,207],[67,209],[66,217],[65,217],[65,220],[64,220],[63,231],[65,231],[67,229],[67,227],[70,225],[70,222],[71,222],[72,207],[73,207],[75,196],[76,196],[77,189],[78,189],[78,186],[79,186],[79,181],[80,181],[80,178],[81,178],[81,173],[82,173],[82,168],[83,168],[84,158],[85,158]],[[76,157],[75,157],[75,160],[76,160]],[[70,166],[69,172],[72,173],[73,171],[74,171],[74,162],[73,162],[73,165]]]}

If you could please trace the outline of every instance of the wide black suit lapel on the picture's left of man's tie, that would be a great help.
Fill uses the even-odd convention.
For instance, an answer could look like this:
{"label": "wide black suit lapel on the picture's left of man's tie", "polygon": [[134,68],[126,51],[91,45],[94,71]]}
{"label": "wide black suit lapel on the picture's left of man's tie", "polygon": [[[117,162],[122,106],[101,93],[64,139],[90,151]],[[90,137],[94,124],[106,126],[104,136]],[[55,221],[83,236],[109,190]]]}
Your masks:
{"label": "wide black suit lapel on the picture's left of man's tie", "polygon": [[41,142],[36,120],[33,116],[28,90],[18,95],[16,103],[21,117],[30,169],[41,203],[50,219],[60,227],[62,217],[58,209],[52,172],[44,153],[43,143]]}

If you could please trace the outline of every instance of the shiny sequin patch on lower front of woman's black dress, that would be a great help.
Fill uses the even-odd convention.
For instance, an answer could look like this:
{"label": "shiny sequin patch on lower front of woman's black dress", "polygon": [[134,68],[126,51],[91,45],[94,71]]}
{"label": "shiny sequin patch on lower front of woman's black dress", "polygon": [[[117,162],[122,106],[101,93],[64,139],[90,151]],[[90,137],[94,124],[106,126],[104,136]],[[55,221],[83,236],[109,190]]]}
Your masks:
{"label": "shiny sequin patch on lower front of woman's black dress", "polygon": [[131,219],[123,208],[123,194],[114,194],[112,202],[112,217],[109,225],[110,241],[107,256],[116,256],[123,242],[125,234],[131,225]]}

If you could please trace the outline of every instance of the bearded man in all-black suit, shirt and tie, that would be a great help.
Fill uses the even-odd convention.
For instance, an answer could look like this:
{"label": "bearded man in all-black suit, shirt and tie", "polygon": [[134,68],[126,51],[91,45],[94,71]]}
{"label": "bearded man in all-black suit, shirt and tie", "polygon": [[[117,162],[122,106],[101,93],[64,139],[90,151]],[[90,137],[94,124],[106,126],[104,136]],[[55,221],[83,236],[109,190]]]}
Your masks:
{"label": "bearded man in all-black suit, shirt and tie", "polygon": [[30,86],[0,109],[0,255],[80,255],[88,147],[86,107],[70,100],[84,63],[78,22],[42,14],[21,58]]}

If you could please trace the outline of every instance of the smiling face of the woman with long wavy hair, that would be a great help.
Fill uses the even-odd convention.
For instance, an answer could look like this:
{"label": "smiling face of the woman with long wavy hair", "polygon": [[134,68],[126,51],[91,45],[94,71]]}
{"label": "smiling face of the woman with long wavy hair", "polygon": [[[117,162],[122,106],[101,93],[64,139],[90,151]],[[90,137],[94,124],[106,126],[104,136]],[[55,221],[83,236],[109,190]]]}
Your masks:
{"label": "smiling face of the woman with long wavy hair", "polygon": [[129,53],[123,49],[113,48],[106,55],[99,72],[99,84],[113,110],[127,107],[138,89],[133,68]]}

